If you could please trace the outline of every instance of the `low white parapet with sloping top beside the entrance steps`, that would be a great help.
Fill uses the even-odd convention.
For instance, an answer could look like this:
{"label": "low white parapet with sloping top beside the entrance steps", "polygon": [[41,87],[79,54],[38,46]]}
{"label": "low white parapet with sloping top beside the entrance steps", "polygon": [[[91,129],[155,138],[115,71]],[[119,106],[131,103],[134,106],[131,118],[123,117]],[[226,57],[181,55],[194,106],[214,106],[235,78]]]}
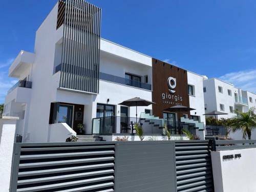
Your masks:
{"label": "low white parapet with sloping top beside the entrance steps", "polygon": [[49,125],[49,142],[66,142],[71,136],[76,136],[76,132],[67,123],[55,123]]}

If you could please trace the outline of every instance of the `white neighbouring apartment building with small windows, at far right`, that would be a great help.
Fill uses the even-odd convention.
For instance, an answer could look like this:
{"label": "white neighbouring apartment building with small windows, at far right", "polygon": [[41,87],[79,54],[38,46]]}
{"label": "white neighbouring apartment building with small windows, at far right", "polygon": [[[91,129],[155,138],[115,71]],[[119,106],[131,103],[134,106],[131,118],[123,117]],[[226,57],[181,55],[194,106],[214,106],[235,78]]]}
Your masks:
{"label": "white neighbouring apartment building with small windows, at far right", "polygon": [[203,87],[205,113],[220,111],[228,114],[218,118],[232,118],[237,116],[236,110],[248,112],[256,107],[256,94],[236,88],[231,83],[204,77]]}

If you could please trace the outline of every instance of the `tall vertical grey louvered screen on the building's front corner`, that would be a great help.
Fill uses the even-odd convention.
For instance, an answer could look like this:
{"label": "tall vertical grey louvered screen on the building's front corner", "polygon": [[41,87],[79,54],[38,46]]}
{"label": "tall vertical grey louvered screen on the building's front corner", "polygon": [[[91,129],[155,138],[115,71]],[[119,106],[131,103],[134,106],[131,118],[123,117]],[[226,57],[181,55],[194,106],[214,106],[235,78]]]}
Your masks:
{"label": "tall vertical grey louvered screen on the building's front corner", "polygon": [[60,88],[99,92],[101,9],[84,0],[59,1],[63,25]]}

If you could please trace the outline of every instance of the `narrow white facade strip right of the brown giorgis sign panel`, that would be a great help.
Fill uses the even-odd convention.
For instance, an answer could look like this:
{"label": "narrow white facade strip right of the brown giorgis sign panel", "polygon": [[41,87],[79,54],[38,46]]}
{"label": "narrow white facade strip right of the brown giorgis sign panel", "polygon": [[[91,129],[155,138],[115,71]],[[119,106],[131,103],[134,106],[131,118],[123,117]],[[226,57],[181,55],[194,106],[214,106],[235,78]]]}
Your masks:
{"label": "narrow white facade strip right of the brown giorgis sign panel", "polygon": [[188,84],[195,86],[195,95],[189,95],[190,108],[196,110],[190,111],[190,115],[200,116],[200,121],[205,124],[204,114],[204,94],[203,94],[203,77],[201,75],[187,72]]}

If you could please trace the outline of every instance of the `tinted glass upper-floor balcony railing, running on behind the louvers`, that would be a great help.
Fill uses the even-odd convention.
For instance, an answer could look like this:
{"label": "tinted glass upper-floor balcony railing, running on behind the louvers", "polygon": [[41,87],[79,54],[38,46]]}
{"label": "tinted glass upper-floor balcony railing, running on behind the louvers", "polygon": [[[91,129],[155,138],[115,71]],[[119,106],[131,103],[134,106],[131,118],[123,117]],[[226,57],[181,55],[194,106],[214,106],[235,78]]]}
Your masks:
{"label": "tinted glass upper-floor balcony railing, running on behind the louvers", "polygon": [[[67,65],[66,66],[67,69],[73,69],[74,67],[77,68],[77,71],[86,70],[85,68],[77,67],[77,66],[73,66],[73,65]],[[57,73],[60,70],[61,70],[61,64],[56,66],[55,73]],[[70,70],[70,71],[72,71],[72,70]],[[95,73],[95,71],[93,71],[93,73]],[[105,80],[105,81],[110,81],[110,82],[115,82],[115,83],[120,83],[120,84],[125,84],[126,86],[132,86],[132,87],[136,87],[136,88],[151,90],[151,84],[143,83],[143,82],[139,82],[139,81],[134,81],[134,80],[131,80],[131,79],[126,79],[126,78],[123,78],[123,77],[118,77],[118,76],[110,75],[110,74],[107,74],[107,73],[100,72],[99,73],[99,79]]]}

